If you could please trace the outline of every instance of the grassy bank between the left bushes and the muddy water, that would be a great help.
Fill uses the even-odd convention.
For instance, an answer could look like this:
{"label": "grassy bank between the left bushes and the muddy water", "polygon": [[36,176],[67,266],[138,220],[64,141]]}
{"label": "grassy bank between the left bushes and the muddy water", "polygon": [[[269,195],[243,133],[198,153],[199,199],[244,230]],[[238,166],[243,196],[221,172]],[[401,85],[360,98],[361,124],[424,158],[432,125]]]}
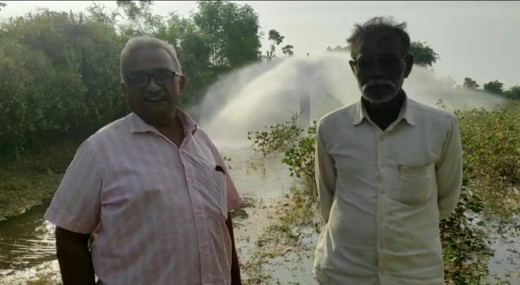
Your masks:
{"label": "grassy bank between the left bushes and the muddy water", "polygon": [[51,198],[79,141],[63,141],[0,160],[0,221]]}

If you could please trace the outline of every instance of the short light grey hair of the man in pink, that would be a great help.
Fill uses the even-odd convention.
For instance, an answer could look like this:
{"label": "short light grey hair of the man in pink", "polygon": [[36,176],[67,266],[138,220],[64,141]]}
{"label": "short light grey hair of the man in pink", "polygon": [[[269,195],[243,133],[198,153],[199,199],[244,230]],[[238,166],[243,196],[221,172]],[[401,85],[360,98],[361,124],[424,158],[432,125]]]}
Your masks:
{"label": "short light grey hair of the man in pink", "polygon": [[128,60],[131,59],[131,54],[140,48],[149,47],[165,50],[168,54],[170,54],[173,60],[173,64],[175,65],[176,70],[173,71],[177,72],[178,74],[183,74],[179,60],[177,59],[177,52],[169,42],[153,37],[135,37],[129,39],[121,50],[121,55],[119,58],[119,73],[121,75],[121,82],[125,81],[125,75],[123,73]]}

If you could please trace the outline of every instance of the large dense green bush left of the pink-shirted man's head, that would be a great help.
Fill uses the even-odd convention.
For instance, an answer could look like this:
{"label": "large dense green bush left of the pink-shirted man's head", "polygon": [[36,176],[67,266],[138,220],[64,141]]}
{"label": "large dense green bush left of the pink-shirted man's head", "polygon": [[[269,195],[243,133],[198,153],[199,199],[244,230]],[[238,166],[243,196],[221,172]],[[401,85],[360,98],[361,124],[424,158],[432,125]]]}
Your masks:
{"label": "large dense green bush left of the pink-shirted man's head", "polygon": [[118,53],[109,27],[40,10],[0,29],[0,157],[85,135],[121,117]]}

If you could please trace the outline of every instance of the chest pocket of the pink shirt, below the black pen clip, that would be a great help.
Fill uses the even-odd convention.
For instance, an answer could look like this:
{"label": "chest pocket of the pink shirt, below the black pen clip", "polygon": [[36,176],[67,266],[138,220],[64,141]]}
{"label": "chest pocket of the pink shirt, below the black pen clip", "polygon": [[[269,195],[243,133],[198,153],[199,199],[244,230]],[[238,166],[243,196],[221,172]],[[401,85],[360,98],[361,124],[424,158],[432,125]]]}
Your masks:
{"label": "chest pocket of the pink shirt, below the black pen clip", "polygon": [[226,175],[215,167],[204,167],[206,192],[210,207],[227,219]]}

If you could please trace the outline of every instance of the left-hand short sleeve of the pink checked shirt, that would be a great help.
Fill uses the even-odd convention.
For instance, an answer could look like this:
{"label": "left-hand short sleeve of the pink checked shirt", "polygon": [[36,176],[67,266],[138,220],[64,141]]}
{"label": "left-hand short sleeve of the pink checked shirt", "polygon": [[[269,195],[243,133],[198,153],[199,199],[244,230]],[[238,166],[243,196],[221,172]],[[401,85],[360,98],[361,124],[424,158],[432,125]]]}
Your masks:
{"label": "left-hand short sleeve of the pink checked shirt", "polygon": [[92,143],[76,151],[44,219],[63,229],[83,234],[99,224],[103,166]]}

